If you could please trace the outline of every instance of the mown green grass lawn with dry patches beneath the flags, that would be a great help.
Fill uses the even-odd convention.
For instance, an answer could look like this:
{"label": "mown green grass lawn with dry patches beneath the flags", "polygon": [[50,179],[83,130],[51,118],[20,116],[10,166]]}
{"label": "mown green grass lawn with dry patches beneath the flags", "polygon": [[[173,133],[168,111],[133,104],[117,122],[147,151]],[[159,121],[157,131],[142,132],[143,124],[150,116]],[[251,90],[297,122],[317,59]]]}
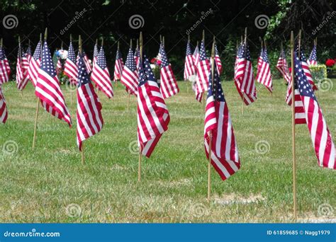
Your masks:
{"label": "mown green grass lawn with dry patches beneath the flags", "polygon": [[[318,99],[336,142],[332,82],[335,88],[319,91]],[[291,108],[282,80],[274,80],[273,96],[257,85],[258,99],[243,115],[233,81],[223,81],[242,167],[225,181],[212,170],[210,202],[203,104],[189,85],[189,91],[186,83],[179,86],[181,92],[167,100],[169,129],[151,158],[142,158],[138,183],[138,155],[130,151],[137,139],[137,104],[132,96],[127,110],[121,83],[113,100],[99,93],[105,124],[84,142],[85,165],[76,144],[76,100],[69,103],[69,90],[62,86],[74,126],[69,129],[40,108],[32,149],[33,86],[29,83],[21,96],[14,83],[4,84],[9,118],[0,125],[0,222],[292,221]],[[255,147],[261,141],[269,144],[265,154]],[[18,148],[10,155],[2,151],[9,142]],[[296,126],[296,159],[298,217],[335,219],[335,171],[318,166],[306,125]]]}

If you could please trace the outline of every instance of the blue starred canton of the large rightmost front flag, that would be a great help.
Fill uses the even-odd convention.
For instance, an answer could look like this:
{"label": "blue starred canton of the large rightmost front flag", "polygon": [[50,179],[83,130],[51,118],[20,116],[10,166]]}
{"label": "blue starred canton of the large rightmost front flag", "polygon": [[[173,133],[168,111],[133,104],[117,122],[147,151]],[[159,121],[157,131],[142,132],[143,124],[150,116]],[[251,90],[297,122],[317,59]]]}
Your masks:
{"label": "blue starred canton of the large rightmost front flag", "polygon": [[294,52],[294,59],[295,82],[298,85],[298,91],[300,91],[301,96],[306,96],[316,100],[313,89],[311,88],[310,83],[307,80],[307,76],[302,69],[300,59],[298,59],[296,52]]}

